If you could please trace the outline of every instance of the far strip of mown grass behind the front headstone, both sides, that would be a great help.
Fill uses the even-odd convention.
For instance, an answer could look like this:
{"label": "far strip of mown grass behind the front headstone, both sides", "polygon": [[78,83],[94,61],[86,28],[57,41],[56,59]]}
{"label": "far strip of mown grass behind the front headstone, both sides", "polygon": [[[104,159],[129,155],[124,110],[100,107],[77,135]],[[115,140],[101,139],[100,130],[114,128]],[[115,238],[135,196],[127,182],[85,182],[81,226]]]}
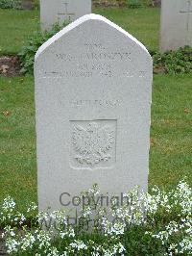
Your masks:
{"label": "far strip of mown grass behind the front headstone, both sides", "polygon": [[[95,9],[93,12],[108,17],[141,40],[147,48],[152,50],[158,48],[158,9]],[[38,29],[38,11],[0,9],[0,55],[19,52],[21,46]]]}

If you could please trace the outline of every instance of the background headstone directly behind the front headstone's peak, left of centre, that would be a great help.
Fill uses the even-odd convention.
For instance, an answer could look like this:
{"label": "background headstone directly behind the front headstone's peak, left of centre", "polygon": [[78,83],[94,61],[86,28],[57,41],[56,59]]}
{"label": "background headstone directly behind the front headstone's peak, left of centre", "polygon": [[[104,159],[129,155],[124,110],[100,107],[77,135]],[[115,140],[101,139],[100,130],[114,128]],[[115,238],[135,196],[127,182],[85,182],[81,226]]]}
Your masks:
{"label": "background headstone directly behind the front headstone's peak, left of centre", "polygon": [[91,13],[91,0],[40,0],[41,29],[49,30],[53,24],[71,22]]}

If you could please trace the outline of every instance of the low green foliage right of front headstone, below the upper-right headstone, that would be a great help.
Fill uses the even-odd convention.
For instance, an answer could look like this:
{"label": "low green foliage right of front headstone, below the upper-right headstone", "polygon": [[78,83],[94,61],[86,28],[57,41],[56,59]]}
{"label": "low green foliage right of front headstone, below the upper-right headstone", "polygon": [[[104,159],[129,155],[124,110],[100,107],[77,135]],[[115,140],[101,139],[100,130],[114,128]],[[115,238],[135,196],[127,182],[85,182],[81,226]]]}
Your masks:
{"label": "low green foliage right of front headstone, below the upper-right headstone", "polygon": [[178,51],[169,51],[164,54],[152,52],[155,72],[181,74],[192,72],[192,48],[185,46]]}

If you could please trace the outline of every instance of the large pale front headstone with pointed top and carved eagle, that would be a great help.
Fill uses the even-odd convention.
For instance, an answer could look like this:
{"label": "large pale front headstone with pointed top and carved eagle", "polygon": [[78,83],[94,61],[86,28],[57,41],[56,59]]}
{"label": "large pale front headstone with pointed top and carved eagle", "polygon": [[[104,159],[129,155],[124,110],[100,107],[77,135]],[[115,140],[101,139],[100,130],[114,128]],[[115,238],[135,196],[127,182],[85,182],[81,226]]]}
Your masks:
{"label": "large pale front headstone with pointed top and carved eagle", "polygon": [[[96,14],[36,53],[39,209],[97,183],[120,195],[148,187],[153,64],[146,48]],[[65,198],[67,200],[67,198]]]}

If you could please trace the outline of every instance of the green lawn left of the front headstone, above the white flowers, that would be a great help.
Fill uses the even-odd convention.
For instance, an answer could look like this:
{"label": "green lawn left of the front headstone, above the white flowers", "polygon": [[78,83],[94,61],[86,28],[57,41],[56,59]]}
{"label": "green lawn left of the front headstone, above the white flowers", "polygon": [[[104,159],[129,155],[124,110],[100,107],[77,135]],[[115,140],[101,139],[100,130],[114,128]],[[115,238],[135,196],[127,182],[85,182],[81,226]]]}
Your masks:
{"label": "green lawn left of the front headstone, above the white flowers", "polygon": [[0,201],[36,201],[34,79],[0,78]]}

